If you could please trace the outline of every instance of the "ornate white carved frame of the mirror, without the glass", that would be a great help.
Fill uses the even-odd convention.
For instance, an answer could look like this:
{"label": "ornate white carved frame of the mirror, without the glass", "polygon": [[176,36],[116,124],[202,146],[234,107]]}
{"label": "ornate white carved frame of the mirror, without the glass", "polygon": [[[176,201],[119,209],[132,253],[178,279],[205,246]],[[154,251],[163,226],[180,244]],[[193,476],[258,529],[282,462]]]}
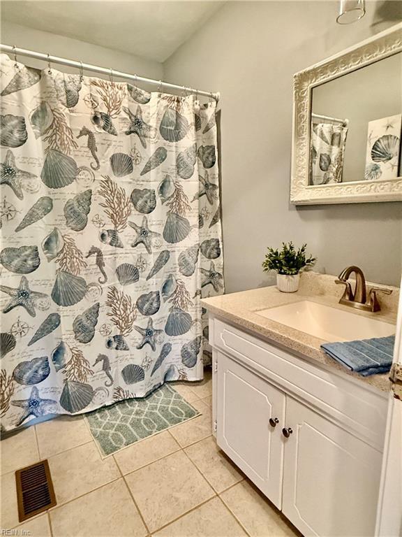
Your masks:
{"label": "ornate white carved frame of the mirror, without the glass", "polygon": [[290,201],[296,205],[402,201],[402,177],[309,185],[311,94],[313,87],[402,51],[402,23],[294,76],[292,180]]}

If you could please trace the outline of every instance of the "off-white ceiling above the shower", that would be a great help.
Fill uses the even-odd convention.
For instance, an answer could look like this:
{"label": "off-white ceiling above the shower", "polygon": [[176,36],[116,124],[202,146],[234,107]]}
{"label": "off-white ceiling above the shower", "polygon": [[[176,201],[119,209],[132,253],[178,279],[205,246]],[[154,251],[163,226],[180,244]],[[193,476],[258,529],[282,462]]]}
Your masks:
{"label": "off-white ceiling above the shower", "polygon": [[3,20],[164,62],[223,1],[6,0]]}

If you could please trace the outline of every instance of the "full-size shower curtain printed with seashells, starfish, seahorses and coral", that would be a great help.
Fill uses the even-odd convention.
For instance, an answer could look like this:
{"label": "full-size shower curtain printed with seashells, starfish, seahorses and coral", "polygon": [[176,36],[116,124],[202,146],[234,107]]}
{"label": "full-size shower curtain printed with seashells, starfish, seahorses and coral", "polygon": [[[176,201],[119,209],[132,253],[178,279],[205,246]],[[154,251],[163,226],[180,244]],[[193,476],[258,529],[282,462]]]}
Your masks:
{"label": "full-size shower curtain printed with seashells, starfish, seahorses and coral", "polygon": [[3,430],[202,378],[215,107],[1,56]]}

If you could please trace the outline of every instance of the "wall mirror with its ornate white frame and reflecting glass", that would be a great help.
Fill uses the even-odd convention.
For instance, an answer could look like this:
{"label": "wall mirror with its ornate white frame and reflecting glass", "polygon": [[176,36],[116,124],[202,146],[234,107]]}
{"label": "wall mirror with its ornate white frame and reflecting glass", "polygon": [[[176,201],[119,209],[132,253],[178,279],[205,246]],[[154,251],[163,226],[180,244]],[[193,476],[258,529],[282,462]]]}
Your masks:
{"label": "wall mirror with its ornate white frame and reflecting glass", "polygon": [[402,199],[402,24],[295,75],[291,201]]}

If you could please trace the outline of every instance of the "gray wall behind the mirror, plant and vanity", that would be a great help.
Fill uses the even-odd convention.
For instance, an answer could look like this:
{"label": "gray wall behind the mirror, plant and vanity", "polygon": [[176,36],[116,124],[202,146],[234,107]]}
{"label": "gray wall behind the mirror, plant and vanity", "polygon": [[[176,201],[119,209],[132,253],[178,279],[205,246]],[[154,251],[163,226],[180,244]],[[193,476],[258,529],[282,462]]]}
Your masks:
{"label": "gray wall behind the mirror, plant and vanity", "polygon": [[[399,4],[399,6],[398,6]],[[165,62],[165,79],[221,92],[223,246],[228,292],[274,282],[267,245],[308,243],[319,271],[357,264],[399,285],[400,203],[289,203],[293,73],[399,22],[402,3],[367,2],[352,26],[338,2],[228,2]]]}

